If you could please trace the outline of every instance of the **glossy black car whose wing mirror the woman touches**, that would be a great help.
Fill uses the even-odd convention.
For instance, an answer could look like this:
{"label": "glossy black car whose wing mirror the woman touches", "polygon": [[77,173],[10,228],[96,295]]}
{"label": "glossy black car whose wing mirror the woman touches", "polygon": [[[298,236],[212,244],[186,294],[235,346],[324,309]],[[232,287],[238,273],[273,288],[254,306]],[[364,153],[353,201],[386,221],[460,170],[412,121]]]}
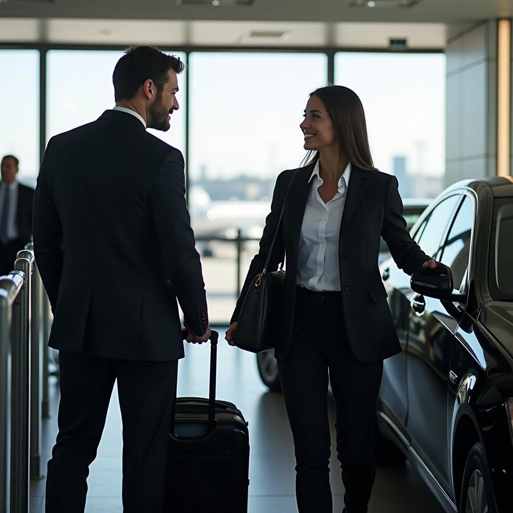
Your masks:
{"label": "glossy black car whose wing mirror the woman touches", "polygon": [[392,259],[380,266],[403,351],[384,362],[376,458],[407,457],[446,511],[511,512],[513,183],[449,187],[411,235],[451,268],[453,292],[421,294]]}

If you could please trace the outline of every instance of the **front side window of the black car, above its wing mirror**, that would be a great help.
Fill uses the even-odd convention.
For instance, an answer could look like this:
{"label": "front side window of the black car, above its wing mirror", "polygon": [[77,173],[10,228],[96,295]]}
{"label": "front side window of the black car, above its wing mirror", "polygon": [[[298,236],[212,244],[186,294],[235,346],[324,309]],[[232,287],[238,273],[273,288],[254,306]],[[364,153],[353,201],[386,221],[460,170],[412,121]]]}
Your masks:
{"label": "front side window of the black car, above its wing mirror", "polygon": [[440,259],[443,264],[451,268],[454,288],[458,291],[461,291],[464,285],[463,279],[468,268],[473,221],[474,207],[472,200],[465,196],[447,235]]}

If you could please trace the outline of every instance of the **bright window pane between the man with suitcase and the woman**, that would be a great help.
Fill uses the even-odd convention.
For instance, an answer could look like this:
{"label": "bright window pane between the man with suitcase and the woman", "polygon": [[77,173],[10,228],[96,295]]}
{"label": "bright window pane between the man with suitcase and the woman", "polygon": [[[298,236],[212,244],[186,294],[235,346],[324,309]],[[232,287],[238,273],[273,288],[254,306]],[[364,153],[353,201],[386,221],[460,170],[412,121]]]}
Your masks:
{"label": "bright window pane between the man with suitcase and the woman", "polygon": [[[259,239],[277,175],[299,167],[308,94],[326,84],[325,54],[192,52],[189,204],[212,322],[238,297],[237,230]],[[208,240],[212,237],[223,241]],[[246,275],[258,242],[242,245]]]}

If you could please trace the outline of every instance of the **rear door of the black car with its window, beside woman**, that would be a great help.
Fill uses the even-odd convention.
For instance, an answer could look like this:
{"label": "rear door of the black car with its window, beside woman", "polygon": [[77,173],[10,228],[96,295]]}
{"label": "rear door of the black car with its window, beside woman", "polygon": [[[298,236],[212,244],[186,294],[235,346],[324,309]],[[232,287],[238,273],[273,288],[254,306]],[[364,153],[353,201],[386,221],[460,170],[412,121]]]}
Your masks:
{"label": "rear door of the black car with its window, beside woman", "polygon": [[[431,211],[429,216],[421,223],[413,234],[413,240],[417,243],[423,238],[424,245],[431,247],[432,254],[439,250],[442,233],[436,237],[439,230],[444,229],[452,212],[455,210],[460,196],[452,195],[443,199],[438,206]],[[426,235],[423,235],[429,223]],[[435,236],[433,239],[433,227]],[[440,228],[441,227],[441,228]],[[406,368],[406,347],[408,338],[409,312],[411,309],[410,277],[397,267],[390,258],[381,265],[382,279],[388,293],[388,306],[392,313],[394,325],[401,344],[402,352],[387,358],[383,362],[383,378],[379,399],[381,407],[386,411],[397,426],[405,426],[408,413],[408,384]]]}

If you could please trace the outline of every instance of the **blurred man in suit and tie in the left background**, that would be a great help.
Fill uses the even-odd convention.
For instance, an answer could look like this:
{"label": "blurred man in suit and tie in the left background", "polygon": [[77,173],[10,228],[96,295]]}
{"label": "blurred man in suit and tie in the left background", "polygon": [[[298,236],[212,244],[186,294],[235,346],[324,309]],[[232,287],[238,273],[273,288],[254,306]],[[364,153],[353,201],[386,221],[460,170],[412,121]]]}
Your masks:
{"label": "blurred man in suit and tie in the left background", "polygon": [[32,235],[34,189],[16,180],[19,161],[14,155],[2,159],[0,181],[0,275],[14,269],[16,253]]}

